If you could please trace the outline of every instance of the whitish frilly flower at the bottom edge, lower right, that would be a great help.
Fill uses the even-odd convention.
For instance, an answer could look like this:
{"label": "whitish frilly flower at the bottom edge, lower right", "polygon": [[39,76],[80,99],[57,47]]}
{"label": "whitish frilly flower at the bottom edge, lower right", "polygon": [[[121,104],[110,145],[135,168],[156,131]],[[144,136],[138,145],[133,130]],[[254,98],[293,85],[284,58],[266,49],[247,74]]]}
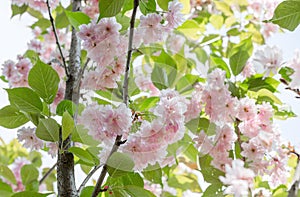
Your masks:
{"label": "whitish frilly flower at the bottom edge, lower right", "polygon": [[234,194],[236,197],[247,196],[249,189],[253,188],[254,172],[244,167],[244,162],[237,159],[232,165],[225,165],[225,177],[219,179],[228,187],[225,194]]}

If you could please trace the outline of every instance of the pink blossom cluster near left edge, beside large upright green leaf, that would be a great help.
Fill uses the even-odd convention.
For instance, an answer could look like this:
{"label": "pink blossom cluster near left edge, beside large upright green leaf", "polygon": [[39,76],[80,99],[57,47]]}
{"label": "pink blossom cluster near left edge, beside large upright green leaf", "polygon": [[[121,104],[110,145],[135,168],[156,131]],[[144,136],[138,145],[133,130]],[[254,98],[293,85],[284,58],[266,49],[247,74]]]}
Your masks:
{"label": "pink blossom cluster near left edge, beside large upright green leaf", "polygon": [[2,74],[11,87],[27,87],[28,73],[32,68],[31,61],[28,58],[18,57],[18,62],[12,60],[4,62]]}

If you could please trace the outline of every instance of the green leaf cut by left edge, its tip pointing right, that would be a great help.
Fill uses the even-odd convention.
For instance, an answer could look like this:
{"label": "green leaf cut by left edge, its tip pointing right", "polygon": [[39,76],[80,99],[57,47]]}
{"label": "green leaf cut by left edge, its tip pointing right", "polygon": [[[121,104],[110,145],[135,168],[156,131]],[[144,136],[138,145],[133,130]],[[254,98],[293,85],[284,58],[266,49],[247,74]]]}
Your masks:
{"label": "green leaf cut by left edge, its tip pointing right", "polygon": [[8,105],[0,109],[0,126],[14,129],[26,122],[29,119],[15,107]]}

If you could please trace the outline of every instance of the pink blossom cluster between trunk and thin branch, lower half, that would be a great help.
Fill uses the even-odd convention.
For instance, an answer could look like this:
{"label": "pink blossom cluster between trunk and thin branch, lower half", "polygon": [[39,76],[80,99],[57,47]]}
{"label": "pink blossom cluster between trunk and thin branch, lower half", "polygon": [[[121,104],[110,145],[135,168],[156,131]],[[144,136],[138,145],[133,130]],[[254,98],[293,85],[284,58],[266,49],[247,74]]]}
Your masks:
{"label": "pink blossom cluster between trunk and thin branch, lower half", "polygon": [[78,123],[84,125],[94,139],[111,145],[117,135],[129,132],[132,124],[131,115],[131,110],[123,103],[117,108],[93,103],[82,112]]}

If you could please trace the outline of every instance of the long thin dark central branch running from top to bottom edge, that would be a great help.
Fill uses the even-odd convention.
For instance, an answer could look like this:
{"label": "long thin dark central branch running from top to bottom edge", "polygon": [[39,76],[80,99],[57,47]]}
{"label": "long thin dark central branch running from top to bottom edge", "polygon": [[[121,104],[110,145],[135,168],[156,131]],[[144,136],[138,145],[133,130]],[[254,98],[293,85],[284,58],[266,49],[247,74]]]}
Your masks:
{"label": "long thin dark central branch running from top to bottom edge", "polygon": [[[135,23],[135,16],[136,11],[139,6],[139,0],[134,0],[133,5],[133,11],[130,19],[130,32],[129,32],[129,43],[128,43],[128,51],[127,51],[127,61],[126,61],[126,68],[125,68],[125,75],[124,75],[124,83],[123,83],[123,103],[125,105],[128,105],[128,77],[129,77],[129,68],[130,68],[130,62],[131,62],[131,54],[132,54],[132,42],[133,42],[133,33],[134,33],[134,23]],[[96,183],[95,189],[93,191],[92,197],[97,197],[98,194],[101,191],[101,186],[103,184],[104,178],[107,174],[107,161],[110,158],[110,156],[116,152],[119,149],[119,146],[121,144],[125,143],[125,141],[122,141],[122,135],[118,135],[115,139],[115,143],[110,151],[110,154],[104,163],[104,166],[102,168],[101,174],[99,176],[99,179]]]}

